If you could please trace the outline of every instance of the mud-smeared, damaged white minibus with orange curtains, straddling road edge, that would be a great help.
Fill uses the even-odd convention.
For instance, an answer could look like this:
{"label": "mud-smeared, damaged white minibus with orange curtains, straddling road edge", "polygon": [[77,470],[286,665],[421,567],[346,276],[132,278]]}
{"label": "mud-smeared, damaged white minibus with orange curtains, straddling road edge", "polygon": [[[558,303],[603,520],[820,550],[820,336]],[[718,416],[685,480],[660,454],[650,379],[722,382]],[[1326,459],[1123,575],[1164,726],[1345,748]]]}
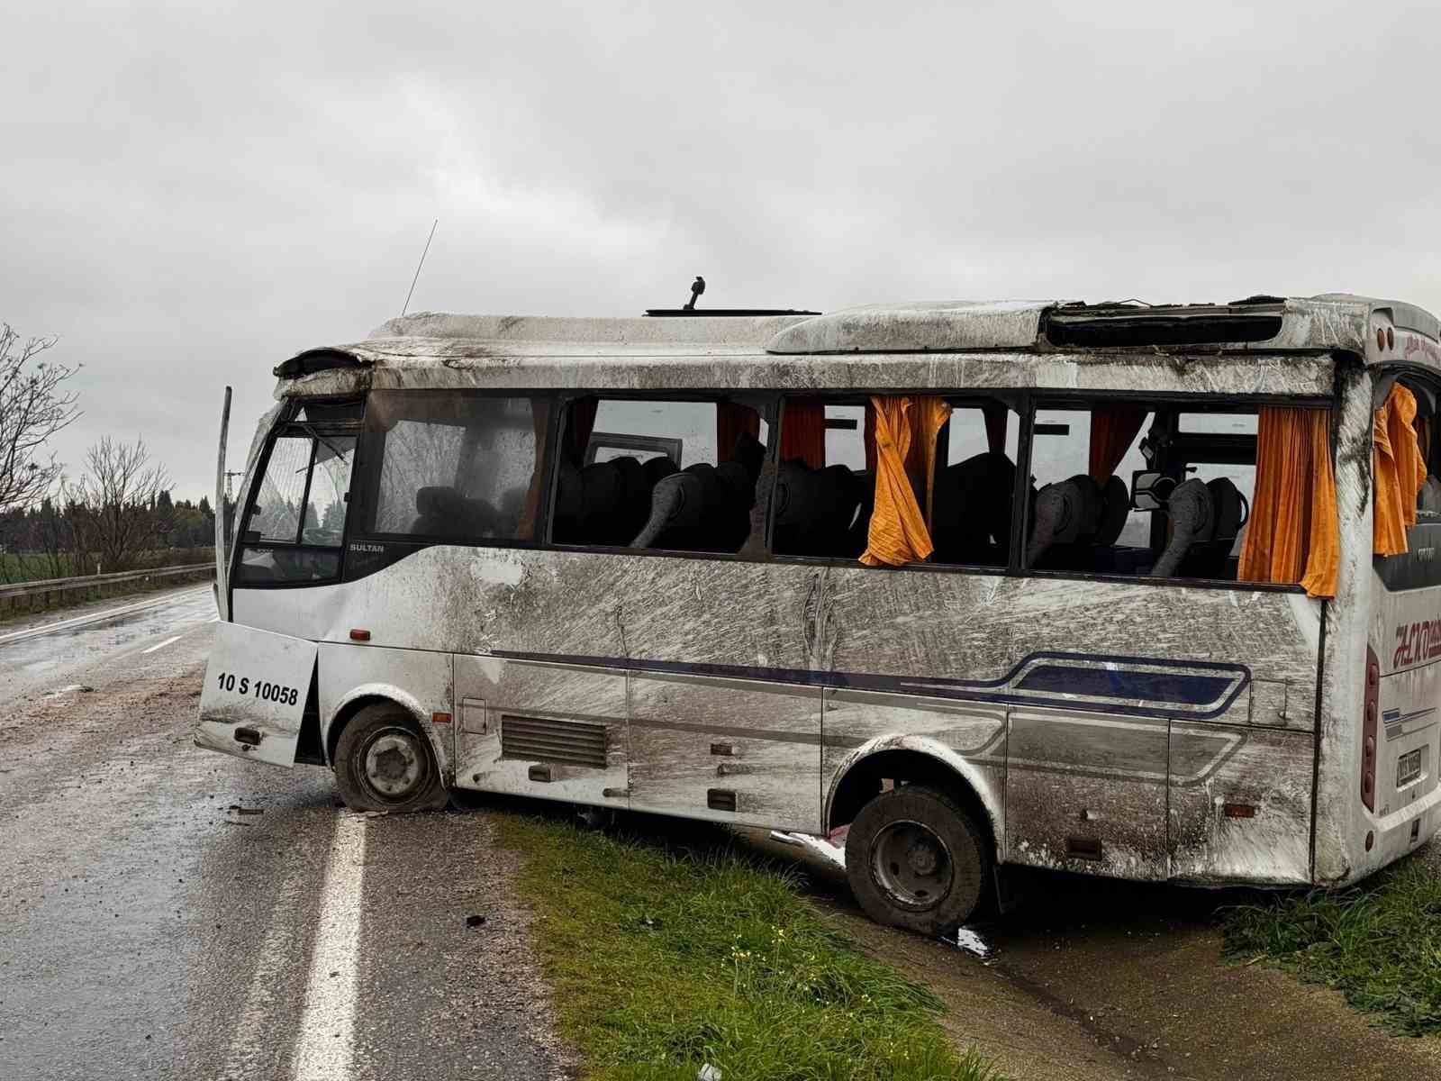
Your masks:
{"label": "mud-smeared, damaged white minibus with orange curtains, straddling road edge", "polygon": [[[275,369],[199,745],[999,869],[1352,882],[1441,823],[1441,329],[1352,295],[421,314]],[[223,450],[222,450],[223,470]]]}

